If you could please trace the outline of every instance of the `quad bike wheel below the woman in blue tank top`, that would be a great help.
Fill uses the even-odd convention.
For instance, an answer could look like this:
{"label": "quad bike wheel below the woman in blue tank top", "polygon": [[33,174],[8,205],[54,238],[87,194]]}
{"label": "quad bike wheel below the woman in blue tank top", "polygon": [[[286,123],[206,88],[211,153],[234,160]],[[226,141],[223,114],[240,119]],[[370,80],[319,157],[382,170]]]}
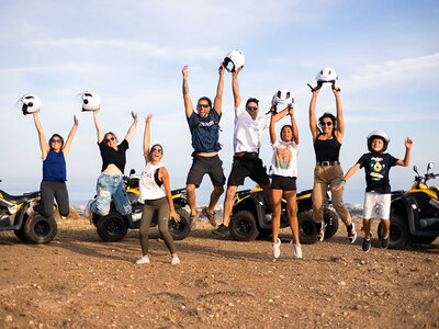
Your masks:
{"label": "quad bike wheel below the woman in blue tank top", "polygon": [[27,218],[24,222],[23,232],[25,240],[29,242],[47,243],[55,238],[58,226],[56,225],[54,217],[46,218],[37,215],[35,217]]}

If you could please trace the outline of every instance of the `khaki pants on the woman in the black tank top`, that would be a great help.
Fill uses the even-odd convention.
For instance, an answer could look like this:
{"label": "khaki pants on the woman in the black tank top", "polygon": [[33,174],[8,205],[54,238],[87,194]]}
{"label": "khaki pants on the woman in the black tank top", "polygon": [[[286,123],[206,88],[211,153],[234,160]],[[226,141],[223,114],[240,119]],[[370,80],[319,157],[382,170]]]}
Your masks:
{"label": "khaki pants on the woman in the black tank top", "polygon": [[[340,164],[337,166],[316,166],[314,169],[314,188],[313,188],[313,220],[322,223],[323,205],[326,201],[326,192],[328,186],[331,189],[344,178]],[[346,226],[350,225],[352,219],[348,208],[342,203],[342,190],[331,191],[333,206],[340,216]]]}

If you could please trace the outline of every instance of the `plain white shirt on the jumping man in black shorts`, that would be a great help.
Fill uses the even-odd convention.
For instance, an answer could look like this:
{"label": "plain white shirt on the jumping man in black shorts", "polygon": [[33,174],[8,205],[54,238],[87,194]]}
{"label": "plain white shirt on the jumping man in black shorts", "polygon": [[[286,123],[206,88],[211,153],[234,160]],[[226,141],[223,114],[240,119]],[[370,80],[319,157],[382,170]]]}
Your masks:
{"label": "plain white shirt on the jumping man in black shorts", "polygon": [[258,152],[262,132],[269,127],[269,122],[263,115],[252,120],[246,110],[246,104],[240,102],[235,109],[234,151]]}

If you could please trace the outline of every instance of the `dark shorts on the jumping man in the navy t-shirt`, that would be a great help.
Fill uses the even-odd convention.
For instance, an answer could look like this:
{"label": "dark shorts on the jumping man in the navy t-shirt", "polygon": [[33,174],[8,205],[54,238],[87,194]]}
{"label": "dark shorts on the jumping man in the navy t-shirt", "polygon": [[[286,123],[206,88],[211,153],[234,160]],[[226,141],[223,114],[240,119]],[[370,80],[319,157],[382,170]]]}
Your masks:
{"label": "dark shorts on the jumping man in the navy t-shirt", "polygon": [[203,177],[209,173],[212,184],[214,186],[223,186],[226,182],[224,175],[223,161],[218,155],[213,157],[200,157],[194,155],[192,160],[192,167],[189,169],[185,184],[193,184],[196,188],[200,186],[203,181]]}

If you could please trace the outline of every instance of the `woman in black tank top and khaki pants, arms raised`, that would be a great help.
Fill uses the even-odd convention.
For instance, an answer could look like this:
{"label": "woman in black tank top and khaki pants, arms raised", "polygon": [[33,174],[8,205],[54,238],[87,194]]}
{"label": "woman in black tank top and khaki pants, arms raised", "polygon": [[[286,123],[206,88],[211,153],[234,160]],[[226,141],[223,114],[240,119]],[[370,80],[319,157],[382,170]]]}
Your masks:
{"label": "woman in black tank top and khaki pants, arms raised", "polygon": [[[337,185],[344,178],[339,154],[345,133],[345,122],[340,101],[340,89],[333,86],[333,92],[336,98],[337,116],[330,113],[324,113],[318,118],[317,125],[315,106],[318,92],[319,89],[314,88],[309,103],[309,129],[313,135],[314,151],[316,155],[313,186],[313,220],[316,226],[317,240],[322,241],[325,236],[323,206],[326,202],[326,193],[328,189]],[[341,220],[346,224],[349,241],[353,243],[357,234],[349,211],[342,203],[342,193],[338,192],[339,191],[331,192],[331,202]]]}

